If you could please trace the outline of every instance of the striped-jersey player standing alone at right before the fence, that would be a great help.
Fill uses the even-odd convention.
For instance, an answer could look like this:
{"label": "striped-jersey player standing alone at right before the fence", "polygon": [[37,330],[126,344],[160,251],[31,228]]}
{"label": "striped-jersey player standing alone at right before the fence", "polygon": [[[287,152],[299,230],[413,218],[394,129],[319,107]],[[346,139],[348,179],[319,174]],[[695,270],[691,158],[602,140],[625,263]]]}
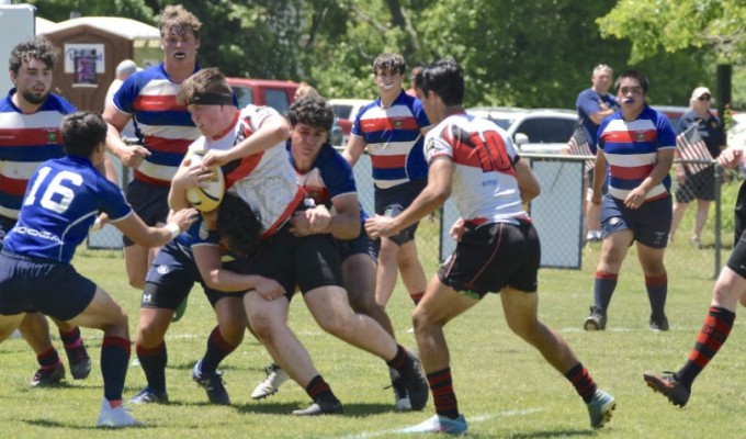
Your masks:
{"label": "striped-jersey player standing alone at right before the fence", "polygon": [[[670,171],[676,133],[668,119],[647,105],[648,81],[636,70],[617,79],[622,110],[601,122],[594,173],[591,203],[601,205],[603,245],[596,269],[594,306],[586,330],[603,330],[607,309],[626,251],[636,243],[651,301],[649,326],[668,330],[666,295],[668,278],[663,262],[671,224]],[[601,194],[604,170],[609,188]],[[601,204],[602,203],[602,204]]]}

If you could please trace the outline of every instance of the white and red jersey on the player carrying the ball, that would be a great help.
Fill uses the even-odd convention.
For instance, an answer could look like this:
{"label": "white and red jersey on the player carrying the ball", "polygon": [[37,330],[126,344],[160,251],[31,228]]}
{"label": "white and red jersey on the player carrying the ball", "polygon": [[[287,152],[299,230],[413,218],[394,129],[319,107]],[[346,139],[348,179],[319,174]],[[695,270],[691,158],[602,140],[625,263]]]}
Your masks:
{"label": "white and red jersey on the player carrying the ball", "polygon": [[[218,138],[202,136],[189,149],[230,149],[251,136],[268,117],[279,114],[269,106],[247,105],[236,112],[233,126],[225,135]],[[227,190],[240,196],[259,213],[262,238],[272,236],[303,201],[304,192],[295,180],[295,170],[287,158],[284,142],[240,161],[230,162],[223,170]]]}

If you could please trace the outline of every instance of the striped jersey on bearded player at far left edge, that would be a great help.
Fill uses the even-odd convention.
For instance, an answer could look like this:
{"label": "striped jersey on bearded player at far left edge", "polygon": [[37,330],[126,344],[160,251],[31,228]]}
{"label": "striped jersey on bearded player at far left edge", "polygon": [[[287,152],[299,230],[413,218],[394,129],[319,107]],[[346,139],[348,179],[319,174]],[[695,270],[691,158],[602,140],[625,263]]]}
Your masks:
{"label": "striped jersey on bearded player at far left edge", "polygon": [[13,104],[15,89],[0,101],[0,216],[19,217],[23,194],[36,168],[63,157],[59,125],[75,106],[49,93],[36,113],[23,114]]}

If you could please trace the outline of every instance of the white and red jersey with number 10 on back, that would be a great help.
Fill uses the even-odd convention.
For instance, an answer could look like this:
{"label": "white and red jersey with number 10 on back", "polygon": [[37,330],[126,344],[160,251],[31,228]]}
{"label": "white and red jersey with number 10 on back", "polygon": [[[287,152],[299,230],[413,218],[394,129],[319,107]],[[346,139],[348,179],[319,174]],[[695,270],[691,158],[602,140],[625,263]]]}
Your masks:
{"label": "white and red jersey with number 10 on back", "polygon": [[513,168],[520,156],[493,122],[451,115],[427,134],[425,156],[428,164],[443,156],[453,160],[452,198],[464,221],[516,224],[529,218]]}

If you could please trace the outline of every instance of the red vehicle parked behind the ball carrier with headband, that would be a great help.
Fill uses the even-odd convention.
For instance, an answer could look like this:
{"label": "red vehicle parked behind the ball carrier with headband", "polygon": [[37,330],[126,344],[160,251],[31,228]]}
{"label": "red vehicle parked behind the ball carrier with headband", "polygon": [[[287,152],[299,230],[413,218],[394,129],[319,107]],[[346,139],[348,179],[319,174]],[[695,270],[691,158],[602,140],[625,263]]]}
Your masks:
{"label": "red vehicle parked behind the ball carrier with headband", "polygon": [[278,79],[226,78],[238,97],[238,108],[250,103],[269,105],[280,114],[287,114],[287,108],[295,100],[297,82]]}

